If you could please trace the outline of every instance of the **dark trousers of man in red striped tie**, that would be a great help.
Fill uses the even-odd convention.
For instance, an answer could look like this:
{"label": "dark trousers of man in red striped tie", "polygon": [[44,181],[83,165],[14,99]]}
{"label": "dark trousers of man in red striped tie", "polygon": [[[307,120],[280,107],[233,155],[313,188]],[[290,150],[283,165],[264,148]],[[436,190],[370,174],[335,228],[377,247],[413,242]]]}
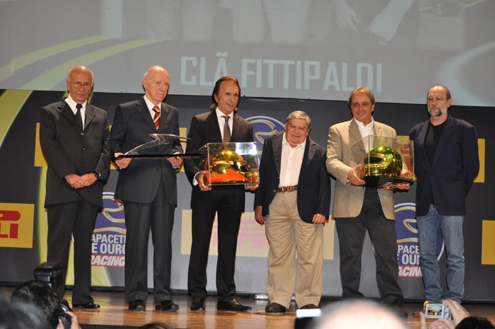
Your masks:
{"label": "dark trousers of man in red striped tie", "polygon": [[155,302],[171,300],[170,267],[175,204],[165,199],[163,183],[151,203],[125,202],[125,300],[148,296],[148,238],[153,241],[153,292]]}

